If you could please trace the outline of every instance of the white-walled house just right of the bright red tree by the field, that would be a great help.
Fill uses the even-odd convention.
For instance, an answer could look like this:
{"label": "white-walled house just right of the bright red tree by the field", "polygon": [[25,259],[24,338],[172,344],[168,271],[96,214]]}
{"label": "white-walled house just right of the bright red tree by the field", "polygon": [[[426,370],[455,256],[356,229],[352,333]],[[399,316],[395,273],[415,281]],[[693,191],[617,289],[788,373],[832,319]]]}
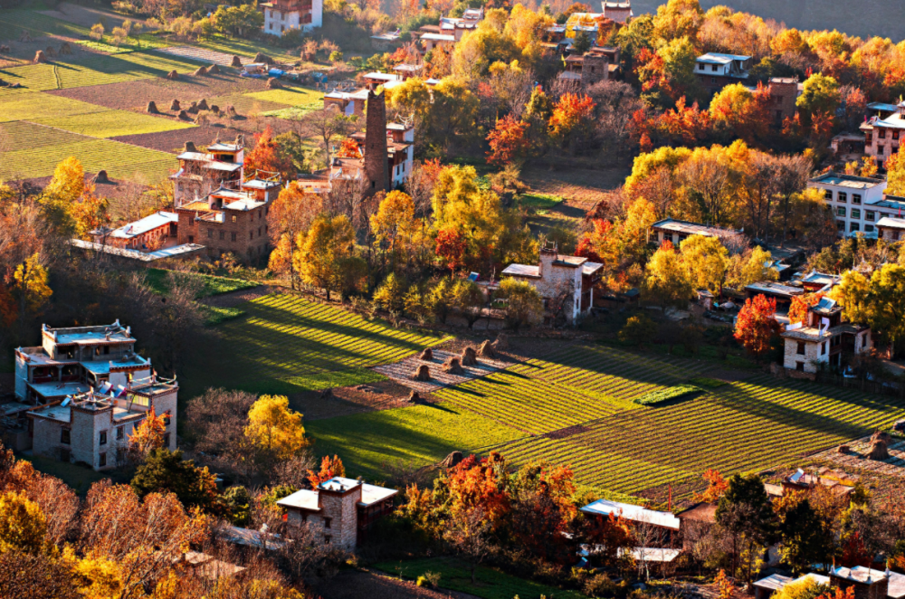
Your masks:
{"label": "white-walled house just right of the bright red tree by the field", "polygon": [[806,373],[817,372],[821,363],[843,366],[843,351],[858,355],[872,348],[871,328],[843,323],[842,307],[826,297],[808,309],[805,323],[789,325],[781,337],[783,366]]}

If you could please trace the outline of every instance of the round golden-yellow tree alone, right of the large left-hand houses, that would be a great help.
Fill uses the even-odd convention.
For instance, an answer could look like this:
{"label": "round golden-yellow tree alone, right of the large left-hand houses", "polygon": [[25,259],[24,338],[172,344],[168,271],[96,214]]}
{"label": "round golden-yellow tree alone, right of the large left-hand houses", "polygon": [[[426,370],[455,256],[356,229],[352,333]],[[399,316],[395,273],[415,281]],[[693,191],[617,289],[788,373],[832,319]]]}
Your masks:
{"label": "round golden-yellow tree alone, right of the large left-hand houses", "polygon": [[285,395],[262,395],[248,411],[245,436],[263,452],[287,460],[308,446],[302,415]]}

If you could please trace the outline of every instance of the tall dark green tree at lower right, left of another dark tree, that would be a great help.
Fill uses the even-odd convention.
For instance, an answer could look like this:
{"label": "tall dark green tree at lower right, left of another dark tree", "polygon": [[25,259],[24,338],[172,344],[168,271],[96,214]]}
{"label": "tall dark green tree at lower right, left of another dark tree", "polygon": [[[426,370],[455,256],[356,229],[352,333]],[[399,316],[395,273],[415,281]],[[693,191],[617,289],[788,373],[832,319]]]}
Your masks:
{"label": "tall dark green tree at lower right, left of another dark tree", "polygon": [[750,582],[757,574],[761,549],[769,547],[776,534],[764,481],[757,474],[736,474],[729,479],[729,488],[719,499],[716,518],[732,538],[733,571]]}

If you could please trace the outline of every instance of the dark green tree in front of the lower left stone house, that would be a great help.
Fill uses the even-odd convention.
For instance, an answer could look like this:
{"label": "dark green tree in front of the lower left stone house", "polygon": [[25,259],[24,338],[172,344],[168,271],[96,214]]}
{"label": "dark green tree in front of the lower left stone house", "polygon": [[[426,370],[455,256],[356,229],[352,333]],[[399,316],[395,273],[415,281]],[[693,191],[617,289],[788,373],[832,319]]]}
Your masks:
{"label": "dark green tree in front of the lower left stone house", "polygon": [[195,461],[183,460],[182,451],[151,450],[148,458],[138,466],[129,485],[138,497],[148,493],[169,491],[186,507],[205,511],[217,510],[217,484],[207,468],[198,468]]}

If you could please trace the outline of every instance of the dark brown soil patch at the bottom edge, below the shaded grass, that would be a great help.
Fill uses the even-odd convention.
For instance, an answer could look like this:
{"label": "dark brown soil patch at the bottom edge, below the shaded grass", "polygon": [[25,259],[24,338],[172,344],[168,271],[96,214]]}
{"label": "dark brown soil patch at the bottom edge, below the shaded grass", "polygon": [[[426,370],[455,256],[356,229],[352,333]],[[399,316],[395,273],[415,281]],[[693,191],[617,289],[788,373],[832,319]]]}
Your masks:
{"label": "dark brown soil patch at the bottom edge, below the shaded grass", "polygon": [[434,591],[411,581],[360,571],[342,572],[313,590],[323,599],[477,599],[473,594]]}

